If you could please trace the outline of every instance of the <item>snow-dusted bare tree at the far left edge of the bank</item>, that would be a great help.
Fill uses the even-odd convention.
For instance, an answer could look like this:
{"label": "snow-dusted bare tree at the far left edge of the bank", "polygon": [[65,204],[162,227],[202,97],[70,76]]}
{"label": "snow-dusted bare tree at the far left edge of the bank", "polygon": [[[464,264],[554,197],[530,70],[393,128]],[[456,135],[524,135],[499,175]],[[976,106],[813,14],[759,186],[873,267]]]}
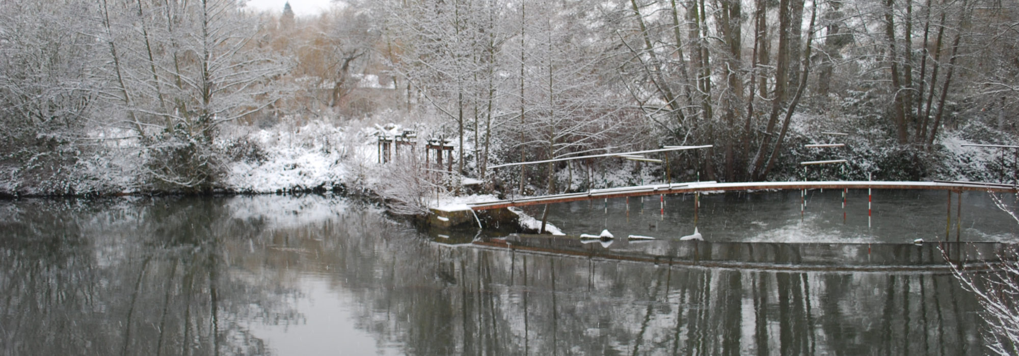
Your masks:
{"label": "snow-dusted bare tree at the far left edge of the bank", "polygon": [[87,1],[0,2],[0,190],[71,193],[95,106]]}

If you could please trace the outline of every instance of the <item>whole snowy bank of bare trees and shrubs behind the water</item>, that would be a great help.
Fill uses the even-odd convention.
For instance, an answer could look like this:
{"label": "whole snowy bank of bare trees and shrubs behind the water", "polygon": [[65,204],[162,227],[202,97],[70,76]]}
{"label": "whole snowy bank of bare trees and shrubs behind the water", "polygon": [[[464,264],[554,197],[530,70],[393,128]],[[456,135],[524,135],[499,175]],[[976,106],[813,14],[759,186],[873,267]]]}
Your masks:
{"label": "whole snowy bank of bare trees and shrubs behind the water", "polygon": [[[826,159],[849,162],[806,178],[1011,181],[1011,151],[962,144],[1016,142],[1017,11],[385,0],[294,17],[235,0],[5,1],[0,193],[354,189],[420,201],[399,196],[461,190],[423,173],[429,137],[455,147],[458,176],[503,194],[802,179],[799,162]],[[403,129],[420,140],[407,167],[379,164],[376,135]],[[804,147],[826,142],[846,146]],[[676,144],[713,147],[671,154],[667,174],[621,159],[488,168]]]}

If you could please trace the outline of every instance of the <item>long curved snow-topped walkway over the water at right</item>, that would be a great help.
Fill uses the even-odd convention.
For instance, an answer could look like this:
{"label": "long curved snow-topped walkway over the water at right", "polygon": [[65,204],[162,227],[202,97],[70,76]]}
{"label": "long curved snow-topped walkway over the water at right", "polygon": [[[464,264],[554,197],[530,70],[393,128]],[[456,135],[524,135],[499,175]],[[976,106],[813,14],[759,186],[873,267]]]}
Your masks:
{"label": "long curved snow-topped walkway over the water at right", "polygon": [[474,211],[491,209],[537,205],[554,202],[579,201],[590,199],[678,194],[702,191],[753,191],[753,190],[801,190],[801,189],[925,189],[962,191],[989,191],[1016,193],[1019,186],[1013,184],[966,182],[966,181],[791,181],[791,182],[686,182],[655,185],[639,185],[619,188],[591,189],[583,192],[550,194],[540,196],[522,196],[518,198],[474,201],[467,203]]}

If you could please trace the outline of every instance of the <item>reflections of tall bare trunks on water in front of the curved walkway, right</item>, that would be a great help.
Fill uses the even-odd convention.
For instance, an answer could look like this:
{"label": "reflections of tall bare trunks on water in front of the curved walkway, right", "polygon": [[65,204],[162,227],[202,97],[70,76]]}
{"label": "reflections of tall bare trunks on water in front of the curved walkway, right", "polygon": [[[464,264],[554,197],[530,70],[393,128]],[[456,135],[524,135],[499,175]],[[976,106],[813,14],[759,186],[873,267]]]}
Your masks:
{"label": "reflections of tall bare trunks on water in front of the curved walkway, right", "polygon": [[[978,331],[967,327],[976,306],[948,275],[667,268],[411,246],[395,249],[392,265],[336,277],[363,298],[361,318],[374,321],[366,329],[409,354],[980,352]],[[392,246],[342,248],[370,264],[372,251]]]}

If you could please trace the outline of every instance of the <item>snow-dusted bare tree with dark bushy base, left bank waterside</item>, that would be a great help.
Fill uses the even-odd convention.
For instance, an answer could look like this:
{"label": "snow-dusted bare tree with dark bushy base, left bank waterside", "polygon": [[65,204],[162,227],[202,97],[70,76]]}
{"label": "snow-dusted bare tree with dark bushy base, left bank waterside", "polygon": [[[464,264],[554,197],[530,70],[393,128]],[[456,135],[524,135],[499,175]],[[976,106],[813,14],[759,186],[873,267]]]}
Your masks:
{"label": "snow-dusted bare tree with dark bushy base, left bank waterside", "polygon": [[258,22],[235,0],[150,3],[101,0],[103,98],[132,130],[157,186],[207,191],[222,174],[217,130],[278,99],[270,79],[286,59],[252,45]]}

